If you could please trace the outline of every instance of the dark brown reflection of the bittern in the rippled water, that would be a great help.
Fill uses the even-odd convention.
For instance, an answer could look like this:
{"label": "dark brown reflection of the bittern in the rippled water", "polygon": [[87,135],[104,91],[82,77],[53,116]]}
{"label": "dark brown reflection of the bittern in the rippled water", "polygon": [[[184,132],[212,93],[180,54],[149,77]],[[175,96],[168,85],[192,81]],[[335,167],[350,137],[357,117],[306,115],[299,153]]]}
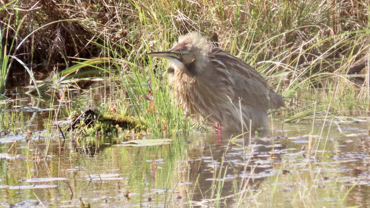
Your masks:
{"label": "dark brown reflection of the bittern in the rippled water", "polygon": [[[269,131],[262,133],[259,135],[270,134]],[[195,205],[213,206],[215,202],[212,199],[222,198],[223,205],[231,206],[235,203],[235,187],[245,183],[248,186],[258,184],[263,178],[279,172],[273,164],[279,160],[280,150],[286,149],[284,145],[273,145],[272,137],[249,140],[249,135],[233,138],[233,135],[223,134],[221,143],[218,135],[208,134],[205,138],[200,140],[205,142],[201,144],[199,135],[191,135],[192,142],[185,158],[188,165],[182,178],[186,180],[188,177],[191,185],[186,184],[184,189],[188,190],[187,194],[192,196]],[[272,154],[273,146],[275,154]],[[220,184],[223,186],[221,190],[218,189]]]}

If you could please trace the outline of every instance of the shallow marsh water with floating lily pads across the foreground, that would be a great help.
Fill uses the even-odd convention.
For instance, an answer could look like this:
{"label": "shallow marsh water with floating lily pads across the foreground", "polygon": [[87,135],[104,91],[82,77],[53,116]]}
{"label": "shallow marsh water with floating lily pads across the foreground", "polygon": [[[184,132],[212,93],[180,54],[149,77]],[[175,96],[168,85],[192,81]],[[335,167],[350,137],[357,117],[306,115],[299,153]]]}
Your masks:
{"label": "shallow marsh water with floating lily pads across the foreground", "polygon": [[30,141],[0,136],[0,205],[80,207],[81,198],[91,207],[370,206],[366,120],[274,121],[251,140],[193,132],[127,147],[122,135],[47,136],[44,114],[23,114]]}

